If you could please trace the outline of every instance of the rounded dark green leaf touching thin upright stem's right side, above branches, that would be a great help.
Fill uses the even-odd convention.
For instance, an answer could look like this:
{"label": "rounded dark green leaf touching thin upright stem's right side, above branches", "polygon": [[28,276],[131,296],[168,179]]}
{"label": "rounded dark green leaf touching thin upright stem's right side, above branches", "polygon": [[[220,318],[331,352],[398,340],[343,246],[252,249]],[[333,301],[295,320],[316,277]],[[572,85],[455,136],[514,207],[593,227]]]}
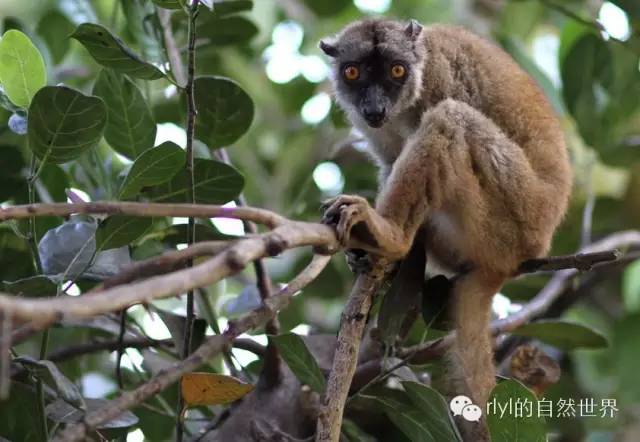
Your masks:
{"label": "rounded dark green leaf touching thin upright stem's right side, above branches", "polygon": [[253,101],[234,81],[200,77],[195,81],[196,137],[210,148],[238,140],[253,121]]}

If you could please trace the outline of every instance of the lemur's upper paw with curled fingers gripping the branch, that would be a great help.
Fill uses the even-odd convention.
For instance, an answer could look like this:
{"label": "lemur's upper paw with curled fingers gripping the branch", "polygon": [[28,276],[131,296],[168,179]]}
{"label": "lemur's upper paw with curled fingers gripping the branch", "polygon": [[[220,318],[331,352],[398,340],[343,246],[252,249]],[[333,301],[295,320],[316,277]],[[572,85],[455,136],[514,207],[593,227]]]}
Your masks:
{"label": "lemur's upper paw with curled fingers gripping the branch", "polygon": [[[339,195],[331,198],[322,204],[322,209],[322,222],[336,228],[338,241],[344,247],[349,246],[353,227],[360,223],[366,226],[373,212],[369,202],[357,195]],[[358,238],[362,239],[364,238]]]}

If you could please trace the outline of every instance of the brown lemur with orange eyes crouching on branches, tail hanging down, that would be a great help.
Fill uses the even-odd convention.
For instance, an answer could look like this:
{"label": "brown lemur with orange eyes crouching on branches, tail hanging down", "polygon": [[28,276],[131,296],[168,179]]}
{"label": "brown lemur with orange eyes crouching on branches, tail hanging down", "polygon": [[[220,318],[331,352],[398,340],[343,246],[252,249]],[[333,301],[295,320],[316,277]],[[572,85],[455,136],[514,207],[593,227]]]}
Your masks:
{"label": "brown lemur with orange eyes crouching on branches, tail hanging down", "polygon": [[392,260],[424,232],[429,260],[459,274],[452,393],[484,408],[495,385],[493,295],[522,261],[548,252],[567,208],[559,122],[509,55],[458,27],[369,19],[320,47],[380,169],[375,208],[341,195],[325,219],[346,248]]}

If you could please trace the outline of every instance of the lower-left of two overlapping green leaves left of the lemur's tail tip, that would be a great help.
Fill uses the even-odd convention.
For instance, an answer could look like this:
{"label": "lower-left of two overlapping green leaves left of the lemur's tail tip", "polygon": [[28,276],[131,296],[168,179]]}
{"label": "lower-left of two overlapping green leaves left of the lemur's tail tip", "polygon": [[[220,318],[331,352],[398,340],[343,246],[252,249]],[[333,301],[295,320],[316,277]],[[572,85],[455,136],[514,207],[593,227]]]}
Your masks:
{"label": "lower-left of two overlapping green leaves left of the lemur's tail tip", "polygon": [[[389,388],[368,388],[366,392],[359,393],[358,396],[375,401],[375,404],[382,408],[393,424],[412,442],[440,442],[440,439],[436,439],[435,435],[431,433],[423,411],[412,403],[405,392]],[[455,440],[447,439],[447,441]]]}

